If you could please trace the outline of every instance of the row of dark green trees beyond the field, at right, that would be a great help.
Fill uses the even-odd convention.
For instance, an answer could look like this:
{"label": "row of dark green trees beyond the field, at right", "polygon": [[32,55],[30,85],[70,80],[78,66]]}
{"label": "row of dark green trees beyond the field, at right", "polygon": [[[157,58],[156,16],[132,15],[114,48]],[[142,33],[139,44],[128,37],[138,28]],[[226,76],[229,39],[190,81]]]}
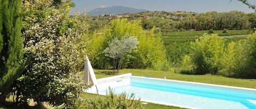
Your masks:
{"label": "row of dark green trees beyond the field, at right", "polygon": [[[181,15],[182,16],[182,15]],[[142,18],[141,25],[144,29],[151,29],[153,26],[161,31],[177,30],[243,30],[256,27],[256,14],[241,11],[230,12],[206,12],[201,14],[184,14],[177,21],[163,18]]]}

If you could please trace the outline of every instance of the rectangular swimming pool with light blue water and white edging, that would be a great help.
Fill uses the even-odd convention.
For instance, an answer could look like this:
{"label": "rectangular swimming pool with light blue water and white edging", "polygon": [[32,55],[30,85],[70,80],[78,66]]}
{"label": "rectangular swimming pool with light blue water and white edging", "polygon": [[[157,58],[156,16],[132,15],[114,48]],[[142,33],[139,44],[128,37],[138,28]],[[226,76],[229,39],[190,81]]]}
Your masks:
{"label": "rectangular swimming pool with light blue water and white edging", "polygon": [[[186,108],[256,108],[256,89],[120,75],[98,79],[98,92],[135,93],[141,101]],[[88,89],[96,93],[96,87]]]}

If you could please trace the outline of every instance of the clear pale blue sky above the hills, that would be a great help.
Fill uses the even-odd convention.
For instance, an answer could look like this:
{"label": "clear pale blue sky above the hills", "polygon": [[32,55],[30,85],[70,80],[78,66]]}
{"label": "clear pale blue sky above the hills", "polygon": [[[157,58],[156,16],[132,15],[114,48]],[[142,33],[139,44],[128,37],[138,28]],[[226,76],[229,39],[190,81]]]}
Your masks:
{"label": "clear pale blue sky above the hills", "polygon": [[[231,10],[244,11],[246,13],[254,12],[247,5],[237,0],[73,0],[76,7],[72,9],[70,14],[74,14],[74,10],[91,11],[102,6],[120,5],[135,9],[146,9],[151,11],[193,11],[207,12],[218,11],[228,12]],[[256,4],[255,0],[249,0],[252,4]]]}

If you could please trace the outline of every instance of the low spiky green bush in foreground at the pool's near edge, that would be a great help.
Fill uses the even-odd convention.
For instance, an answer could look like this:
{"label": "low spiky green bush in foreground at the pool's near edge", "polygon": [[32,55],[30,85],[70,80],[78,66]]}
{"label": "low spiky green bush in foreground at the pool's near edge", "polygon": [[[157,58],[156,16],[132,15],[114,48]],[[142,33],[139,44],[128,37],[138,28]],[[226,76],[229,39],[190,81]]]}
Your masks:
{"label": "low spiky green bush in foreground at the pool's near edge", "polygon": [[91,100],[82,100],[76,104],[77,108],[91,108],[91,109],[123,109],[123,108],[142,108],[140,99],[136,100],[135,95],[127,95],[126,93],[115,94],[111,88],[106,96],[98,95]]}

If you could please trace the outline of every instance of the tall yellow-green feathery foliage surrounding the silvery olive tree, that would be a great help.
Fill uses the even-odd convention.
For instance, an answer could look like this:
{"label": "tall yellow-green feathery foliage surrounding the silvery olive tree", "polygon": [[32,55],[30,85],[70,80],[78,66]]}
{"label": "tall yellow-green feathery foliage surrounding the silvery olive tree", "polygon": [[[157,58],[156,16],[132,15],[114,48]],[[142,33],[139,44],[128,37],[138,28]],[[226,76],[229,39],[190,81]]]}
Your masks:
{"label": "tall yellow-green feathery foliage surrounding the silvery olive tree", "polygon": [[[124,56],[123,68],[162,68],[166,60],[166,50],[160,34],[154,33],[154,28],[146,33],[142,30],[139,22],[129,22],[126,18],[112,20],[109,29],[103,34],[94,33],[88,46],[88,56],[91,57],[92,65],[98,69],[111,69],[112,60],[102,53],[108,47],[108,42],[114,37],[123,39],[123,36],[136,37],[140,42],[138,51]],[[104,63],[104,64],[103,64]],[[160,66],[160,67],[159,67]]]}

